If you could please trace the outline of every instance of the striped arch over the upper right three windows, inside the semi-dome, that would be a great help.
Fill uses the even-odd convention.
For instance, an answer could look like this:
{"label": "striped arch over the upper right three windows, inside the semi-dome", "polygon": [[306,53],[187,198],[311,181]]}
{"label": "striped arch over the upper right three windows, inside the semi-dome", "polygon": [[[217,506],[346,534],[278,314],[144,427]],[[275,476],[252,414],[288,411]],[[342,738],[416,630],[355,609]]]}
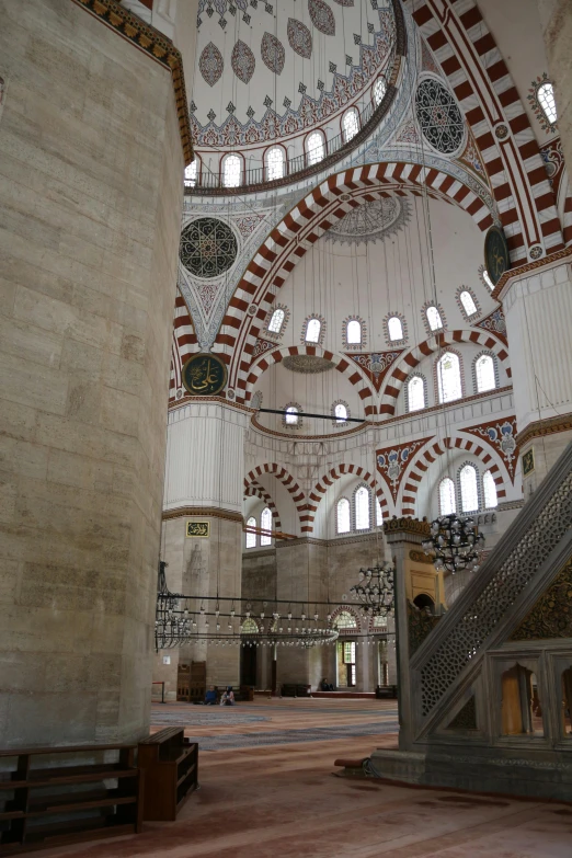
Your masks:
{"label": "striped arch over the upper right three windows, inside the semi-dome", "polygon": [[494,352],[499,361],[503,363],[506,375],[511,378],[512,370],[508,361],[508,352],[496,338],[493,338],[483,331],[444,331],[436,336],[431,336],[428,340],[425,340],[425,342],[416,345],[399,358],[391,375],[388,376],[381,393],[379,413],[389,415],[394,414],[397,398],[410,373],[420,365],[424,357],[434,354],[441,348],[446,348],[454,343],[473,343],[474,345]]}

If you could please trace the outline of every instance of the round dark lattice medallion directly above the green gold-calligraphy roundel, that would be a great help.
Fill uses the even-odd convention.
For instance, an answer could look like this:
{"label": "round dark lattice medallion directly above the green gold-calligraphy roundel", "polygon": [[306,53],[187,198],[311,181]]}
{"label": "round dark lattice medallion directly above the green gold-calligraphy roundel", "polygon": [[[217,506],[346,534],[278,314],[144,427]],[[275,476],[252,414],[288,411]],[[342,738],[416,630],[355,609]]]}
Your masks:
{"label": "round dark lattice medallion directly above the green gold-calligraphy roundel", "polygon": [[230,268],[237,259],[237,239],[222,220],[201,217],[193,220],[181,236],[181,262],[195,277],[217,277]]}

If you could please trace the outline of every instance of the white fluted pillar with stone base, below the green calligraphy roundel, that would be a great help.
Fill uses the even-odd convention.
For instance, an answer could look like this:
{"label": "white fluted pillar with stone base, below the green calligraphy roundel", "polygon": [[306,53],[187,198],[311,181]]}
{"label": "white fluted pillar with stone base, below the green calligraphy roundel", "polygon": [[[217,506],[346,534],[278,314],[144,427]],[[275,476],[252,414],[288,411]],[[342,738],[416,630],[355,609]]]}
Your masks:
{"label": "white fluted pillar with stone base, below the green calligraphy roundel", "polygon": [[[171,592],[204,596],[213,611],[215,602],[206,597],[241,595],[248,416],[222,399],[193,400],[169,414],[162,538],[167,583]],[[197,523],[205,527],[188,527]],[[199,619],[199,631],[206,630],[205,622]],[[208,630],[215,627],[210,617]],[[164,655],[170,656],[168,665]],[[239,685],[240,648],[197,643],[159,653],[153,676],[167,683],[168,698],[175,696],[179,663],[192,662],[206,662],[207,685]]]}

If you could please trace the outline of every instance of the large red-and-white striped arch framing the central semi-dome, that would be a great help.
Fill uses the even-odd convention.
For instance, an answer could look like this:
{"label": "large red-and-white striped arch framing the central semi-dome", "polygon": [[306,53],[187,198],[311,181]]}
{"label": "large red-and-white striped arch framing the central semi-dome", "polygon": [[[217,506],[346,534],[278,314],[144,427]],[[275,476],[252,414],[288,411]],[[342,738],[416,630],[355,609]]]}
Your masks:
{"label": "large red-and-white striped arch framing the central semi-dome", "polygon": [[[457,179],[420,164],[386,162],[329,176],[272,230],[238,284],[216,339],[216,351],[227,356],[228,384],[237,396],[247,388],[249,357],[254,353],[267,311],[296,263],[333,224],[356,206],[392,194],[419,196],[424,186],[431,196],[468,211],[481,230],[487,230],[493,222],[483,199]],[[342,194],[347,194],[348,198],[341,201]],[[247,314],[251,304],[258,307],[253,317]]]}

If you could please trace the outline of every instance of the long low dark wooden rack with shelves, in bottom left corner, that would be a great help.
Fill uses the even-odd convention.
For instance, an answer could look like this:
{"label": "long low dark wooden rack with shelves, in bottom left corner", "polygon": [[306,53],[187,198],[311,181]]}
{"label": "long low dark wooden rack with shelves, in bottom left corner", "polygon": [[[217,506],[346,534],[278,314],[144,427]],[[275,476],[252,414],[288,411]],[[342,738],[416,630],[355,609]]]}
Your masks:
{"label": "long low dark wooden rack with shelves, in bottom left corner", "polygon": [[[142,796],[135,747],[1,751],[0,855],[139,832]],[[108,762],[111,755],[116,759]]]}

